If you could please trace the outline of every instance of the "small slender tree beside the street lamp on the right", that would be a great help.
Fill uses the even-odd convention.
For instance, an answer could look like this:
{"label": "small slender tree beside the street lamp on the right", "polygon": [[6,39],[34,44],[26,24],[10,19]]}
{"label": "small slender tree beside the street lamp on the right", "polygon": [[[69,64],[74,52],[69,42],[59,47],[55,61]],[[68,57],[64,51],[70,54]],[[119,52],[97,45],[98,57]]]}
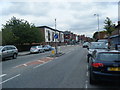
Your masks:
{"label": "small slender tree beside the street lamp on the right", "polygon": [[109,17],[106,17],[104,23],[104,29],[106,29],[108,36],[110,36],[115,30],[115,24],[112,23]]}

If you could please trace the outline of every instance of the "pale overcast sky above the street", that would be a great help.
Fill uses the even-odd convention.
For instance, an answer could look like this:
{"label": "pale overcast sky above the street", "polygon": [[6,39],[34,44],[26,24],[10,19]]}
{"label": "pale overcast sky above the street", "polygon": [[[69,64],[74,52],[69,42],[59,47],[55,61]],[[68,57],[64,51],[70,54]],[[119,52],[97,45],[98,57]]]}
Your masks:
{"label": "pale overcast sky above the street", "polygon": [[49,26],[60,31],[71,31],[92,37],[99,29],[104,30],[104,20],[109,17],[118,22],[119,0],[1,0],[0,29],[11,17],[27,20],[35,26]]}

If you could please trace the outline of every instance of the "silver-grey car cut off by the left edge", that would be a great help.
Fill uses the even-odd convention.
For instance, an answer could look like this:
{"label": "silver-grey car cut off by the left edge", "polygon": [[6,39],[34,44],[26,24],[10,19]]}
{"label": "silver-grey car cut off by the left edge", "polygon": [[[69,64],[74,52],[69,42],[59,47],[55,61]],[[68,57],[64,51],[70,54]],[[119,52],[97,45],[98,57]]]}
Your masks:
{"label": "silver-grey car cut off by the left edge", "polygon": [[17,58],[18,49],[13,45],[0,46],[0,55],[2,60],[8,57]]}

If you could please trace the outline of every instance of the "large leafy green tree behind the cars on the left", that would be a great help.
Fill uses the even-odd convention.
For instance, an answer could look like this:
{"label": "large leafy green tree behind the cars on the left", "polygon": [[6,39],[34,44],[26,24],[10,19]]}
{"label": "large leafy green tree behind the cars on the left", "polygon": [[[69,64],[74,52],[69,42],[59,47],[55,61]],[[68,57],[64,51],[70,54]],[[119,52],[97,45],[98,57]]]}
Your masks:
{"label": "large leafy green tree behind the cars on the left", "polygon": [[12,17],[2,28],[3,44],[40,43],[43,36],[35,27],[23,19]]}

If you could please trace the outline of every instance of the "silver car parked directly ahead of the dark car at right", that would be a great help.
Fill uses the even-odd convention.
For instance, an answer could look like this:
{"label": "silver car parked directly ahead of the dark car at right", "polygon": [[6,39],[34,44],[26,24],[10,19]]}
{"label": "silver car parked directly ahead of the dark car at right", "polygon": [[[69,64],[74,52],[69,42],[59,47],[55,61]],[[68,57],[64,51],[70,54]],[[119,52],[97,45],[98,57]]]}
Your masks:
{"label": "silver car parked directly ahead of the dark car at right", "polygon": [[88,48],[87,62],[89,62],[89,58],[94,52],[105,51],[107,50],[107,45],[104,42],[91,42]]}

